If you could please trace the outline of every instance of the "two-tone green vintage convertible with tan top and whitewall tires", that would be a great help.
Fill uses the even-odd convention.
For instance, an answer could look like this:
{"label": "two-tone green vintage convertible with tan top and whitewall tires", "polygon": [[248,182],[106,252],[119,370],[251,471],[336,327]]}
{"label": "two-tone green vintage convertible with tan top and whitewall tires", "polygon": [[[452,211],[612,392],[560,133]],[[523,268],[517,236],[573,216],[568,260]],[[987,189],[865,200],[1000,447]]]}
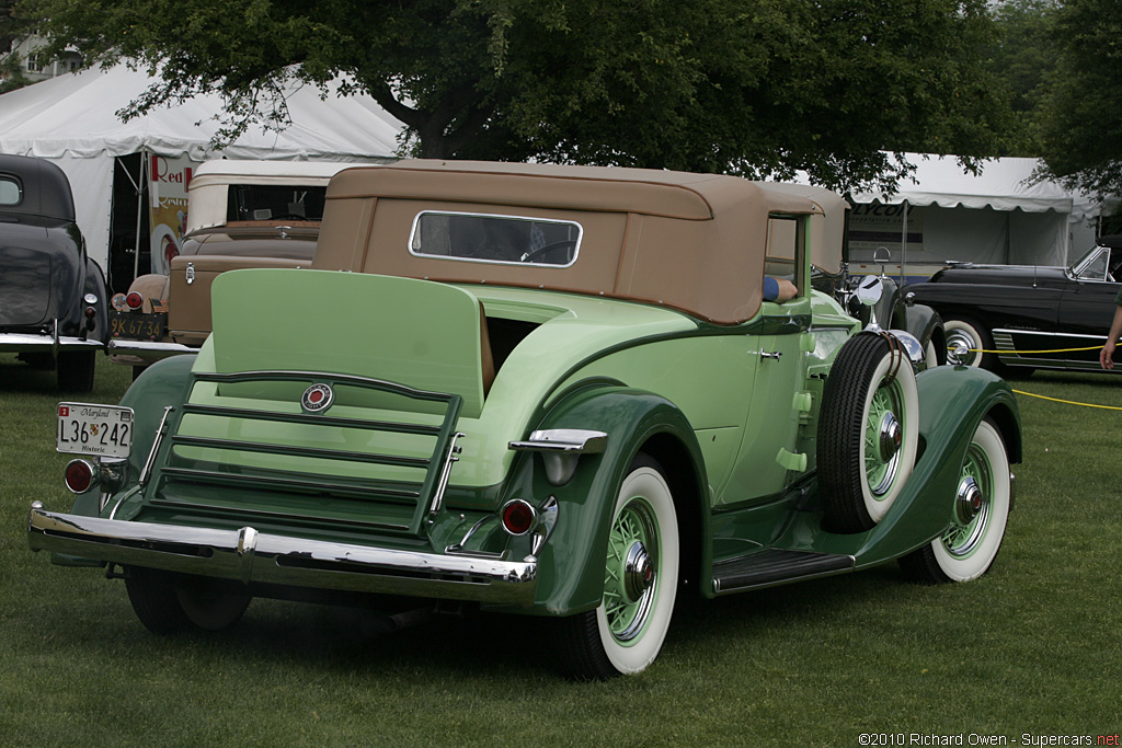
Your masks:
{"label": "two-tone green vintage convertible with tan top and whitewall tires", "polygon": [[647,667],[686,591],[980,576],[1017,404],[812,290],[844,221],[729,176],[347,169],[312,268],[223,274],[196,355],[59,405],[76,499],[33,506],[30,546],[123,579],[156,632],[255,595],[458,601],[552,619],[586,678]]}

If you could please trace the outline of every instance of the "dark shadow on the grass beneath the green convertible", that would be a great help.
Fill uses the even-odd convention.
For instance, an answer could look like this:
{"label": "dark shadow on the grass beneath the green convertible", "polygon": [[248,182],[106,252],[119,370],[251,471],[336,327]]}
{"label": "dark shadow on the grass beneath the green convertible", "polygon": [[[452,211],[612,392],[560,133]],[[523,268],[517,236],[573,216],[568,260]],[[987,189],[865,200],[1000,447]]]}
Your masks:
{"label": "dark shadow on the grass beneath the green convertible", "polygon": [[[894,604],[903,590],[923,590],[903,582],[894,564],[839,578],[702,600],[679,598],[662,658],[671,667],[677,656],[719,658],[730,645],[767,647],[792,628],[827,636],[836,620],[853,608]],[[125,620],[110,625],[110,640],[126,649],[153,655],[195,657],[242,664],[298,664],[342,668],[362,675],[421,671],[432,677],[462,677],[500,668],[521,677],[559,677],[553,658],[553,620],[499,615],[472,606],[449,603],[433,610],[425,601],[390,610],[255,599],[246,616],[224,631],[187,631],[156,636],[132,618],[120,589],[117,606]],[[110,615],[102,610],[101,615]],[[92,622],[92,621],[88,621]],[[99,636],[104,636],[102,632]],[[131,655],[136,656],[135,649]]]}

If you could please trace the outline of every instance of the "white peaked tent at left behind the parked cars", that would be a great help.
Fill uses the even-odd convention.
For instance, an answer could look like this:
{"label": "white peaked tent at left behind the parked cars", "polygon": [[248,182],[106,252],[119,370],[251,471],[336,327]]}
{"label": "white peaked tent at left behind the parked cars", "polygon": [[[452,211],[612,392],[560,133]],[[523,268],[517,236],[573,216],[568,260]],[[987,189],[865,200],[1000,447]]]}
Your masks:
{"label": "white peaked tent at left behind the parked cars", "polygon": [[[378,163],[394,158],[402,123],[369,96],[320,98],[315,86],[294,85],[286,101],[292,124],[280,132],[251,126],[214,151],[221,124],[218,95],[188,99],[122,122],[118,110],[144,93],[153,79],[120,64],[61,75],[0,95],[0,153],[38,156],[70,178],[77,223],[90,256],[105,267],[113,179],[135,179],[114,168],[118,157],[141,154],[187,158],[332,160]],[[134,194],[137,194],[134,185]]]}

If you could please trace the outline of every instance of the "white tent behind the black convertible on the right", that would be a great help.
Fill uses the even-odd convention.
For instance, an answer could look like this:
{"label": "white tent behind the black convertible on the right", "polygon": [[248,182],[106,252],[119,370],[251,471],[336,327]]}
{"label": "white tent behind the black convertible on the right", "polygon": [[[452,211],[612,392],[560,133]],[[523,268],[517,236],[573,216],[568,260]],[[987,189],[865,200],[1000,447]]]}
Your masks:
{"label": "white tent behind the black convertible on the right", "polygon": [[[1095,239],[1097,201],[1034,178],[1036,158],[997,158],[969,174],[953,156],[909,154],[916,166],[892,195],[850,195],[849,255],[890,250],[890,274],[930,275],[947,260],[1066,265]],[[868,268],[858,268],[866,271]]]}

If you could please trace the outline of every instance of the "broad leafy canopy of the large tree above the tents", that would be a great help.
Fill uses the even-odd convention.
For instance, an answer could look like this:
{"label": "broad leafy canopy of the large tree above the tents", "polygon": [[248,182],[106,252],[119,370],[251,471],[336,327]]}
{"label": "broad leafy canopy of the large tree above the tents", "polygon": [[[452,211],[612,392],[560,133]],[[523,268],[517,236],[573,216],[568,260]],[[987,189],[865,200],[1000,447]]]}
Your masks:
{"label": "broad leafy canopy of the large tree above the tents", "polygon": [[616,164],[835,188],[986,156],[1008,102],[985,0],[24,0],[55,49],[138,61],[130,113],[220,91],[283,126],[295,76],[368,92],[434,158]]}

